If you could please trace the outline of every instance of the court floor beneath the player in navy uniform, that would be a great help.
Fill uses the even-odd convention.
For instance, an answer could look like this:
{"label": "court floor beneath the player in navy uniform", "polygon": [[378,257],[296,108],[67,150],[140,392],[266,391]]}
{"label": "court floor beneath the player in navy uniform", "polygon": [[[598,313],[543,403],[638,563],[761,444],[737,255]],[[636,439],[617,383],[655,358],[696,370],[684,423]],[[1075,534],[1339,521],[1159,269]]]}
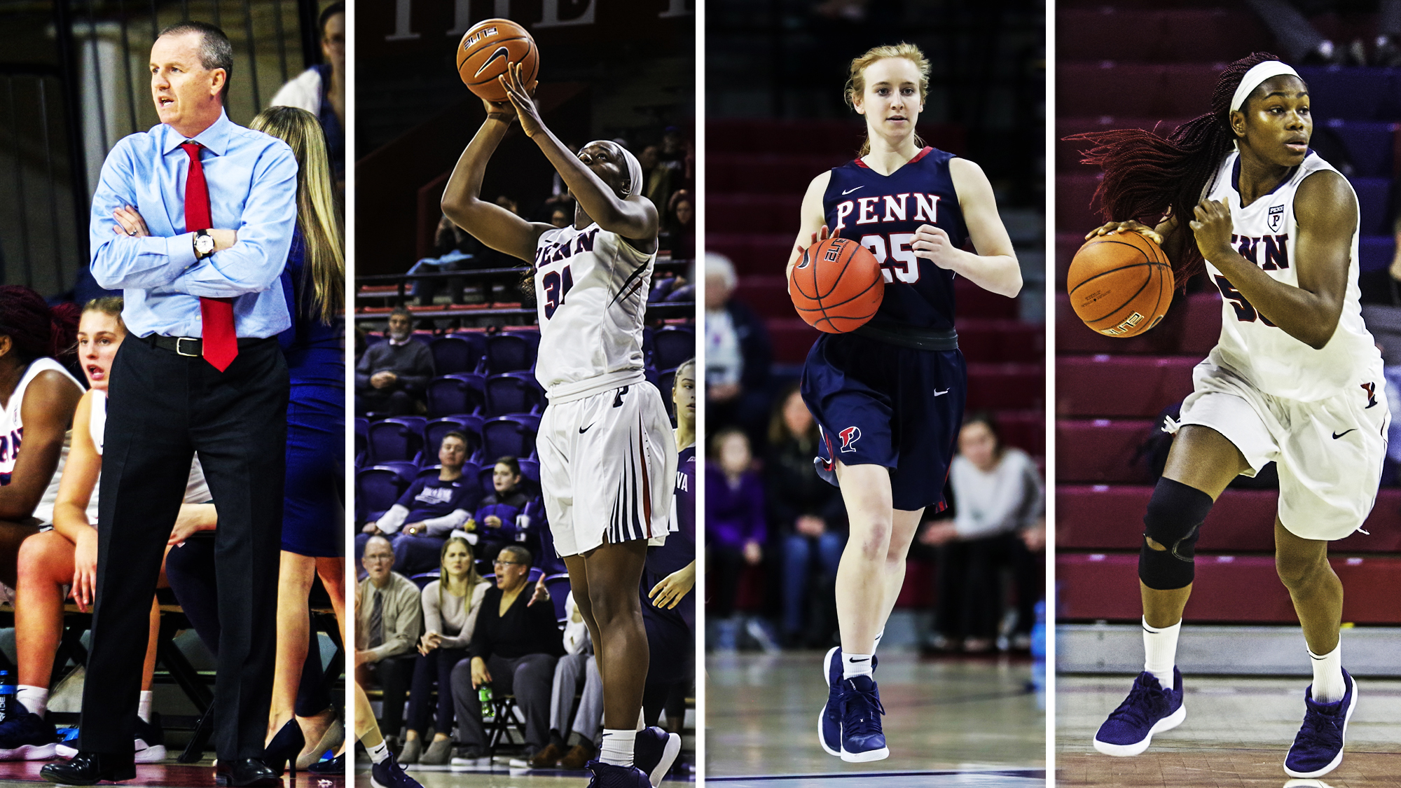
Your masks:
{"label": "court floor beneath the player in navy uniform", "polygon": [[1045,715],[1031,665],[881,653],[891,756],[852,764],[817,743],[822,652],[708,660],[706,782],[726,788],[1030,788],[1045,785]]}

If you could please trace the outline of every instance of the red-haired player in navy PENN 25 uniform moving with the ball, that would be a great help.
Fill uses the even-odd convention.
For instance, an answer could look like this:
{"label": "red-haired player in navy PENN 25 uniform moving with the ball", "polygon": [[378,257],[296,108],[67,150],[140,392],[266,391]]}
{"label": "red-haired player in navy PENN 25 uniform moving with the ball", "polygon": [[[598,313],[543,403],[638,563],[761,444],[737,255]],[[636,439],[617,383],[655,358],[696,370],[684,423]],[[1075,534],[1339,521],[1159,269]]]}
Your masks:
{"label": "red-haired player in navy PENN 25 uniform moving with the ball", "polygon": [[[867,142],[860,158],[813,179],[787,265],[800,310],[811,306],[801,275],[829,257],[850,264],[835,289],[870,292],[860,280],[866,252],[832,247],[828,234],[866,247],[884,280],[874,315],[855,330],[849,320],[820,325],[828,332],[803,367],[803,401],[822,436],[817,470],[841,488],[850,520],[836,572],[842,645],[827,653],[818,738],[824,750],[852,763],[890,754],[873,674],[876,645],[905,580],[920,515],[944,506],[962,423],[967,367],[954,332],[954,276],[1007,297],[1021,290],[986,175],[965,158],[923,147],[915,135],[927,93],[929,62],[915,45],[877,46],[852,60],[846,97],[866,116]],[[976,252],[962,250],[968,241]],[[857,280],[848,283],[850,276]]]}

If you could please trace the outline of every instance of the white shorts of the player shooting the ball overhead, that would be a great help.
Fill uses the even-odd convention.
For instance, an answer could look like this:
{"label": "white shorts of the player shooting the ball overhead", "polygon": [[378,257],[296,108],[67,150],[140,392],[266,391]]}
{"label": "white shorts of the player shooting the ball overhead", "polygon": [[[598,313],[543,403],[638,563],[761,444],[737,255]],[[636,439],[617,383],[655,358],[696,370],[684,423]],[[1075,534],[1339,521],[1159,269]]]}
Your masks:
{"label": "white shorts of the player shooting the ball overhead", "polygon": [[656,386],[642,381],[551,402],[535,447],[560,555],[604,543],[665,538],[677,446]]}

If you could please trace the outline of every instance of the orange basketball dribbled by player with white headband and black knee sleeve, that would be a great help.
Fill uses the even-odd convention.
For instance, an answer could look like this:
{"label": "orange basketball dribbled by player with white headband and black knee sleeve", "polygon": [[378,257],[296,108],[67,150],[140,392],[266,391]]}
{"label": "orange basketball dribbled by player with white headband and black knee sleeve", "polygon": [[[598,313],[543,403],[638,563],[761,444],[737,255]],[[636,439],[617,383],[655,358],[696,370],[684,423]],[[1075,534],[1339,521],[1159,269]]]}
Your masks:
{"label": "orange basketball dribbled by player with white headband and black knee sleeve", "polygon": [[1173,303],[1173,265],[1139,233],[1097,236],[1075,252],[1066,289],[1086,325],[1105,337],[1138,337]]}

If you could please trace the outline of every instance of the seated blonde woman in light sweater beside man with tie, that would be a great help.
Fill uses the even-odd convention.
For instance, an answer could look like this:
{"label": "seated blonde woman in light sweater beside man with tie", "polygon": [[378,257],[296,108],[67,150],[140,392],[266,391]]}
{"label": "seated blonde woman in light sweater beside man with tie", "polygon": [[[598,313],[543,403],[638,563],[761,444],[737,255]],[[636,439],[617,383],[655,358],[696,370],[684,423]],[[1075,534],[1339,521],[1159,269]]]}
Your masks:
{"label": "seated blonde woman in light sweater beside man with tie", "polygon": [[[443,766],[453,760],[453,667],[467,659],[467,646],[476,631],[476,617],[492,583],[476,573],[472,545],[451,537],[443,543],[439,579],[423,586],[423,637],[413,667],[409,694],[409,729],[403,738],[399,763]],[[427,732],[432,705],[429,695],[437,684],[437,719],[433,743],[423,752],[419,738]]]}

